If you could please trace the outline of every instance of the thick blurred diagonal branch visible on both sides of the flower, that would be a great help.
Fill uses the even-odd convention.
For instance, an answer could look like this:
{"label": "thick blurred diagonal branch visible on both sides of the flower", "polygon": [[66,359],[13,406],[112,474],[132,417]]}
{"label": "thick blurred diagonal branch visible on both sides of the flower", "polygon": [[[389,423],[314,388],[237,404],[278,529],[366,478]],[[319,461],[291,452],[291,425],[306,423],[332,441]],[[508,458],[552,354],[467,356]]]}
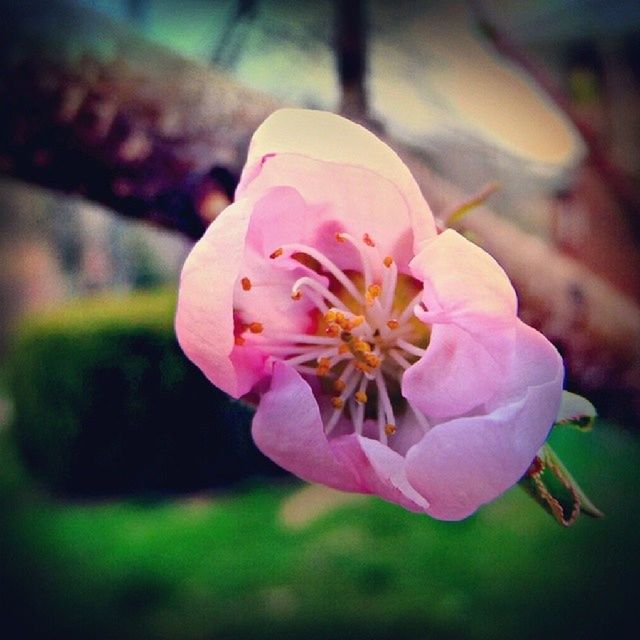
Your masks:
{"label": "thick blurred diagonal branch visible on both sides of the flower", "polygon": [[[60,0],[0,6],[0,168],[198,238],[279,104]],[[435,213],[465,201],[415,150],[387,142]],[[628,405],[640,389],[638,306],[485,207],[460,229],[505,268],[522,316],[560,346],[577,386],[604,383]]]}

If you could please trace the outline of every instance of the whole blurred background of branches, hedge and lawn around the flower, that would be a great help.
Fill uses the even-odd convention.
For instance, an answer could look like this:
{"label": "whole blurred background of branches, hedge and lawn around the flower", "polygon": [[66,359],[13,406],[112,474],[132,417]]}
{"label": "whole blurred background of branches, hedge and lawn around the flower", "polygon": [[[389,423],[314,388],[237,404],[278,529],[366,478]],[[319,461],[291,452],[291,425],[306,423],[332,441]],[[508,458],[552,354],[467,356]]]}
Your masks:
{"label": "whole blurred background of branches, hedge and lawn around the flower", "polygon": [[[3,637],[599,638],[640,577],[640,5],[0,1]],[[512,278],[605,512],[305,486],[181,354],[181,264],[283,104],[345,113]],[[497,188],[496,188],[497,187]]]}

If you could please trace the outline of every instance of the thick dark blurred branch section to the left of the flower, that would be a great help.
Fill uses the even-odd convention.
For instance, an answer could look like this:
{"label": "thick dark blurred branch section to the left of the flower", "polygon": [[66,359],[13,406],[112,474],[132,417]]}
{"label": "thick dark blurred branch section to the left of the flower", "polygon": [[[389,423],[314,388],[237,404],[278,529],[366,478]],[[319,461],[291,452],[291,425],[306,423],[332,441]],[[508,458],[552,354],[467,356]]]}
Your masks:
{"label": "thick dark blurred branch section to the left of the flower", "polygon": [[60,0],[0,0],[0,70],[0,170],[192,238],[278,106]]}

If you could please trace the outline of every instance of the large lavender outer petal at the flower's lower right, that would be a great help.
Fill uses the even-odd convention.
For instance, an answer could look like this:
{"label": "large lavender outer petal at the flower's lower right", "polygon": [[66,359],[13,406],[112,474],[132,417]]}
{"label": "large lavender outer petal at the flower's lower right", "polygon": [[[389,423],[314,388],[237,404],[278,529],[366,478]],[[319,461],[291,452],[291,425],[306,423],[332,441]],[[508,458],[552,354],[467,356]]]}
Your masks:
{"label": "large lavender outer petal at the flower's lower right", "polygon": [[562,360],[544,336],[521,322],[516,348],[502,402],[488,414],[434,427],[407,454],[409,482],[436,518],[459,520],[506,491],[547,437],[560,405]]}

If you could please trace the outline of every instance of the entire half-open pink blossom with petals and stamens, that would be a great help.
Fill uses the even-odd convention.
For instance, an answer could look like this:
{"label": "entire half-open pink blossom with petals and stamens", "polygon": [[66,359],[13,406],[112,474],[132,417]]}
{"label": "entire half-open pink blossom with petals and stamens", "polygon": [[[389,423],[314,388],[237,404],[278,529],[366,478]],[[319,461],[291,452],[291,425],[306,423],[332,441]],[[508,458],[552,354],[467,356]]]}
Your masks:
{"label": "entire half-open pink blossom with petals and stamens", "polygon": [[258,398],[279,465],[456,520],[518,481],[560,406],[562,361],[516,307],[383,142],[285,109],[187,259],[176,329],[213,384]]}

